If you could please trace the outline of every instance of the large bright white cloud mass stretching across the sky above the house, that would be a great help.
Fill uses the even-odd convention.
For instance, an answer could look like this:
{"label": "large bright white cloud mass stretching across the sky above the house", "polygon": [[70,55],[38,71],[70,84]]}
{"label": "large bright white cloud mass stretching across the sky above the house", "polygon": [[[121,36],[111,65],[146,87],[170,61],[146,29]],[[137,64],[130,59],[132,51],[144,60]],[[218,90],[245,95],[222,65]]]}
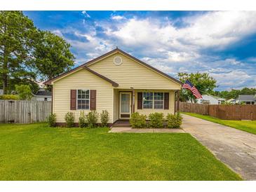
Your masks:
{"label": "large bright white cloud mass stretching across the sky above the house", "polygon": [[[83,11],[83,15],[88,15]],[[86,16],[90,18],[90,15]],[[182,19],[182,27],[177,27],[170,18],[124,18],[112,15],[112,21],[97,20],[94,26],[85,21],[86,32],[69,33],[85,38],[88,42],[67,39],[76,50],[77,60],[92,59],[116,46],[130,51],[144,62],[168,74],[177,72],[209,72],[217,79],[220,88],[238,88],[247,85],[251,74],[248,63],[234,57],[224,58],[205,55],[202,50],[222,50],[232,43],[241,41],[256,31],[256,11],[217,11]],[[113,20],[121,22],[113,22]],[[97,29],[102,34],[98,36]],[[68,30],[67,30],[68,31]],[[55,30],[63,36],[65,32]],[[140,57],[141,56],[141,57]],[[255,62],[255,57],[248,62]],[[254,68],[255,69],[255,68]],[[249,71],[249,72],[248,72]],[[254,81],[256,84],[256,80]],[[250,85],[253,82],[250,81]]]}

